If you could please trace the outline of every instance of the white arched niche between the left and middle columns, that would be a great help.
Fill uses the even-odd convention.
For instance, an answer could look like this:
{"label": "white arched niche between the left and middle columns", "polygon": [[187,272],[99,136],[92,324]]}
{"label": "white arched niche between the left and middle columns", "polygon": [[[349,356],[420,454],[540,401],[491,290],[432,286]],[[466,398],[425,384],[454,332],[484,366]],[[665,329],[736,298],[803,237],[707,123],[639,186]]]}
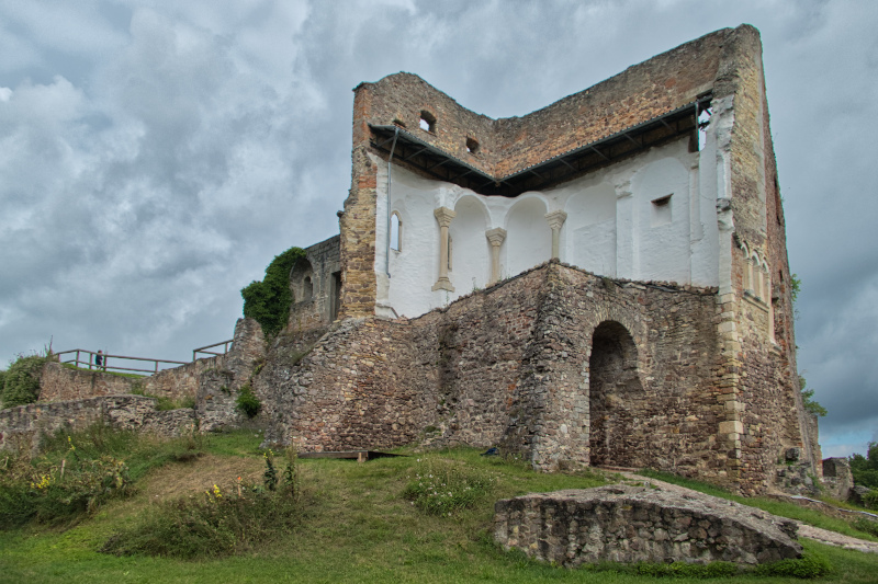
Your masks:
{"label": "white arched niche between the left and middle columns", "polygon": [[487,211],[484,204],[474,196],[463,196],[454,205],[454,219],[449,227],[453,242],[449,264],[449,278],[458,295],[465,295],[473,288],[483,288],[491,276],[487,230]]}

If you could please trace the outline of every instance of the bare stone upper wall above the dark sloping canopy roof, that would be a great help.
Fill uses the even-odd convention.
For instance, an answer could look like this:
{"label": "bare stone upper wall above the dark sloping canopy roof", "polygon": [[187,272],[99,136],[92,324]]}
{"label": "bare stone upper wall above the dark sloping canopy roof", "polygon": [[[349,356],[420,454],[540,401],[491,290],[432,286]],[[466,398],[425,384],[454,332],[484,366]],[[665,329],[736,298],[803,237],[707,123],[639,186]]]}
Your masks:
{"label": "bare stone upper wall above the dark sloping canopy roof", "polygon": [[370,124],[395,124],[489,175],[508,176],[699,95],[735,91],[730,76],[754,41],[758,44],[758,31],[751,25],[721,28],[547,107],[500,119],[461,106],[416,75],[391,75],[354,88],[353,144],[368,144]]}

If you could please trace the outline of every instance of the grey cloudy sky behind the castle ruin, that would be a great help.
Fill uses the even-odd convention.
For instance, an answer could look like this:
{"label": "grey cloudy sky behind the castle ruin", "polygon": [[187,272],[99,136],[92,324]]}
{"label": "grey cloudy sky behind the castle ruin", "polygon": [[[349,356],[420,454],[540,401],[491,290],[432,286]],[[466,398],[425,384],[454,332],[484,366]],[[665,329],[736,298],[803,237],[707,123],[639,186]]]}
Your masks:
{"label": "grey cloudy sky behind the castle ruin", "polygon": [[825,456],[878,438],[878,2],[0,0],[0,366],[185,360],[335,234],[351,89],[410,71],[522,115],[725,26],[762,32],[797,337]]}

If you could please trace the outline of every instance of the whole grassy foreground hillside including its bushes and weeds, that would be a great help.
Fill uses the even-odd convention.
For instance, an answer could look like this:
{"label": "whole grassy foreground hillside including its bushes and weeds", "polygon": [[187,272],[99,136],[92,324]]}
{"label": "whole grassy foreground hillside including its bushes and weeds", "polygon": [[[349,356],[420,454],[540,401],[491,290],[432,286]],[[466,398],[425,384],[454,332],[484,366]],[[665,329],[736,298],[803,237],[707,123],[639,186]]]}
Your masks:
{"label": "whole grassy foreground hillside including its bushes and weeds", "polygon": [[[260,442],[254,431],[158,443],[92,428],[48,440],[29,468],[18,467],[12,456],[0,458],[0,582],[656,581],[637,566],[565,570],[541,564],[493,543],[496,499],[596,486],[607,481],[601,474],[537,473],[521,461],[459,448],[397,450],[405,456],[364,463],[296,460],[285,476],[283,454],[260,450]],[[89,482],[95,460],[106,463],[97,463],[103,474]],[[123,460],[124,468],[119,466]],[[61,465],[65,479],[57,477]],[[115,470],[108,471],[111,467]],[[24,488],[30,494],[13,489],[23,484],[14,481],[25,472],[32,472]],[[273,491],[267,488],[272,480]],[[65,481],[78,481],[79,491],[61,489]],[[63,500],[75,503],[83,490],[93,501],[80,505],[80,512],[63,512]],[[60,504],[46,499],[49,491]],[[763,503],[785,514],[783,504]],[[789,505],[787,511],[802,509]],[[823,519],[815,514],[804,520]],[[181,526],[200,530],[201,539],[181,535]],[[870,537],[847,524],[844,528]],[[158,537],[145,537],[149,529]],[[803,545],[810,557],[825,558],[833,566],[820,582],[878,580],[878,556],[808,540]],[[137,546],[140,553],[125,554]],[[677,580],[689,581],[695,580]],[[797,582],[754,574],[712,581]]]}

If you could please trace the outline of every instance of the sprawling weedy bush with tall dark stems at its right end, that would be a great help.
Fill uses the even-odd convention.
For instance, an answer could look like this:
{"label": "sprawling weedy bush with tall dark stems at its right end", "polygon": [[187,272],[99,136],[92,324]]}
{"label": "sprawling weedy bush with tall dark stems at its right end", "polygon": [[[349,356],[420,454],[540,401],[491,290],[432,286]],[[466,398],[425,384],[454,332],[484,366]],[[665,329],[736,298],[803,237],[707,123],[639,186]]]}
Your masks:
{"label": "sprawling weedy bush with tall dark stems at its right end", "polygon": [[101,549],[115,556],[159,556],[194,559],[222,557],[255,549],[272,537],[285,536],[299,524],[295,453],[286,453],[283,488],[278,489],[273,453],[266,453],[273,489],[247,485],[240,478],[223,490],[214,484],[200,497],[158,505],[139,523],[112,536]]}

